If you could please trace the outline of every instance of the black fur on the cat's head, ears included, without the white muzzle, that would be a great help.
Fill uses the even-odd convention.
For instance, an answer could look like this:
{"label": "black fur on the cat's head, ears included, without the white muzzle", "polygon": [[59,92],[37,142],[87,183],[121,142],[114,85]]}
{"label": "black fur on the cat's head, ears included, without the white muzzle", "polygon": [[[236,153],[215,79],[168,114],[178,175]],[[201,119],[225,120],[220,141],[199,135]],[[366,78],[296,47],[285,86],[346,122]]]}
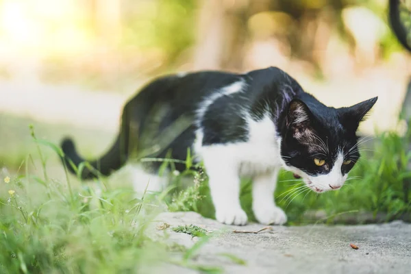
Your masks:
{"label": "black fur on the cat's head, ears included, without the white muzzle", "polygon": [[[309,175],[325,174],[332,169],[337,152],[342,149],[346,159],[352,160],[351,164],[343,165],[341,168],[343,175],[348,173],[360,158],[356,147],[358,125],[376,101],[377,97],[350,108],[336,109],[323,105],[307,93],[297,95],[289,104],[287,119],[282,124],[282,156],[286,164],[295,166]],[[295,118],[292,117],[294,112],[290,108],[295,104],[302,106],[308,115],[308,121],[292,125],[290,120]],[[310,140],[309,143],[301,142],[295,138],[295,131],[308,131],[308,134],[315,134],[317,138]],[[325,143],[325,151],[321,140]],[[326,160],[327,164],[316,166],[314,158]]]}

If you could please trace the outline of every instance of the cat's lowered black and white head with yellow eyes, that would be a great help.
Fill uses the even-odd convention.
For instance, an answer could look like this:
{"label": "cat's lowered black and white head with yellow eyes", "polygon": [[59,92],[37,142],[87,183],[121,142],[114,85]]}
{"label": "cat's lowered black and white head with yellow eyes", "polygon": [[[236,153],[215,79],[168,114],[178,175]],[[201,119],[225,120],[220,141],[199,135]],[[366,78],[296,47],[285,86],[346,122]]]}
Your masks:
{"label": "cat's lowered black and white head with yellow eyes", "polygon": [[336,190],[360,158],[356,132],[377,97],[337,109],[315,99],[305,101],[294,99],[288,104],[282,159],[286,169],[315,192]]}

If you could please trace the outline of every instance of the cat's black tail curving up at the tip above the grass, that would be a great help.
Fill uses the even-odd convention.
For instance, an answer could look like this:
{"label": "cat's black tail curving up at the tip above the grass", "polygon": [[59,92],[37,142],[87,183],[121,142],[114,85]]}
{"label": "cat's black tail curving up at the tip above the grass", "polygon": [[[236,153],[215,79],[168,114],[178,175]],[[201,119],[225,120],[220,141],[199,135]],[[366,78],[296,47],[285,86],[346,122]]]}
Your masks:
{"label": "cat's black tail curving up at the tip above the grass", "polygon": [[84,160],[84,158],[77,153],[74,142],[71,138],[65,138],[62,141],[61,147],[64,152],[62,162],[71,173],[77,175],[75,169],[73,168],[73,164],[78,169],[82,162],[88,162],[91,169],[88,168],[90,166],[85,165],[84,169],[82,169],[81,177],[82,179],[93,179],[97,178],[99,175],[108,176],[110,173],[120,169],[121,166],[125,164],[129,154],[129,123],[126,113],[127,111],[123,112],[121,130],[116,141],[110,150],[97,160]]}

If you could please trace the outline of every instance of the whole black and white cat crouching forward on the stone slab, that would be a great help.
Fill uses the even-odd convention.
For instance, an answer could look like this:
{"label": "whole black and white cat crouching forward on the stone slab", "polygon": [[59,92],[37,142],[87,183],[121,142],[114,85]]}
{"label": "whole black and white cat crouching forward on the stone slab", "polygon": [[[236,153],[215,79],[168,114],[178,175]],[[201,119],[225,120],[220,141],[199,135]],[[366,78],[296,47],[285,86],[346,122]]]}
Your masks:
{"label": "whole black and white cat crouching forward on the stone slab", "polygon": [[[273,195],[279,170],[302,177],[314,192],[341,188],[360,158],[358,125],[376,101],[329,108],[275,67],[246,74],[169,75],[155,79],[126,103],[116,142],[90,164],[109,175],[136,151],[185,160],[190,148],[206,168],[218,221],[247,223],[239,200],[240,177],[252,176],[256,219],[281,225],[287,217]],[[76,166],[84,162],[71,140],[64,140],[62,149],[64,160]],[[152,162],[145,169],[155,174],[160,164]],[[185,165],[177,163],[175,168]],[[90,179],[95,173],[84,169],[82,177]]]}

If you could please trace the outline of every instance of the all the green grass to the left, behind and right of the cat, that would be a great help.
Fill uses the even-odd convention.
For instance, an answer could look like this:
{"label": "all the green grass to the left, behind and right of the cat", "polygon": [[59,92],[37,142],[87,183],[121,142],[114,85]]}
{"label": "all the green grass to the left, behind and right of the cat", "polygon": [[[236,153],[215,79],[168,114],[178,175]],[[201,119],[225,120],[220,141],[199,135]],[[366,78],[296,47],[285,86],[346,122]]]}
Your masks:
{"label": "all the green grass to the left, behind and right of the cat", "polygon": [[[221,272],[192,262],[210,239],[196,224],[173,228],[201,236],[190,249],[166,245],[161,238],[151,240],[145,233],[161,210],[159,201],[171,211],[193,210],[214,217],[203,171],[173,173],[173,183],[166,192],[155,199],[147,195],[136,199],[129,187],[118,186],[119,182],[110,178],[89,185],[79,184],[71,176],[53,179],[47,172],[44,151],[61,151],[49,142],[36,140],[34,134],[32,137],[38,154],[26,157],[23,164],[16,162],[12,173],[7,169],[0,171],[0,273],[144,273],[158,262]],[[411,178],[407,169],[411,159],[409,140],[409,134],[379,134],[372,151],[363,151],[351,171],[351,178],[356,179],[350,179],[341,190],[323,195],[300,193],[297,188],[301,182],[282,172],[275,197],[288,214],[288,224],[306,223],[304,214],[308,210],[324,210],[331,217],[360,211],[386,213],[388,219],[410,214],[411,195],[404,184]],[[34,165],[37,159],[40,166]],[[163,169],[166,165],[173,164],[164,162]],[[188,158],[187,168],[191,165]],[[10,177],[10,182],[5,180],[7,184],[5,177]],[[187,179],[191,184],[184,184]],[[242,182],[241,203],[254,220],[249,181]],[[180,259],[170,253],[178,253]],[[224,256],[232,258],[229,254]]]}

